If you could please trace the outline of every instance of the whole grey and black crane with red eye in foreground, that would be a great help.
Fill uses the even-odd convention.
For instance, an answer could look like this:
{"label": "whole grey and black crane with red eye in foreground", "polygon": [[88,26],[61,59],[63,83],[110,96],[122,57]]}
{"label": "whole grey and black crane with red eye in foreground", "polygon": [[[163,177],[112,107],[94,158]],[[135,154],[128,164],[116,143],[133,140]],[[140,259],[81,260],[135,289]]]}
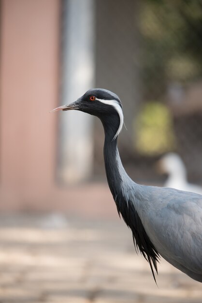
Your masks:
{"label": "whole grey and black crane with red eye in foreground", "polygon": [[[153,277],[160,256],[192,279],[202,282],[202,196],[173,188],[133,182],[117,148],[123,126],[119,97],[91,89],[75,102],[52,111],[79,110],[100,118],[104,133],[104,163],[118,214],[132,231],[136,251],[148,261]],[[156,282],[156,279],[155,279]]]}

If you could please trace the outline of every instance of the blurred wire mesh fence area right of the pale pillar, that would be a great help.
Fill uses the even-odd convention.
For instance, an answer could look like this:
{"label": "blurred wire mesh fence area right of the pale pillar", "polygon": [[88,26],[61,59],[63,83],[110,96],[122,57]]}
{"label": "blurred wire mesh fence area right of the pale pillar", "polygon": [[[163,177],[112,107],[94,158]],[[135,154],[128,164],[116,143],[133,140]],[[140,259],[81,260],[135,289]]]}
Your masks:
{"label": "blurred wire mesh fence area right of the pale pillar", "polygon": [[[162,183],[155,162],[174,151],[202,183],[202,1],[97,0],[96,33],[96,86],[123,102],[119,150],[131,176]],[[94,139],[102,175],[97,120]]]}

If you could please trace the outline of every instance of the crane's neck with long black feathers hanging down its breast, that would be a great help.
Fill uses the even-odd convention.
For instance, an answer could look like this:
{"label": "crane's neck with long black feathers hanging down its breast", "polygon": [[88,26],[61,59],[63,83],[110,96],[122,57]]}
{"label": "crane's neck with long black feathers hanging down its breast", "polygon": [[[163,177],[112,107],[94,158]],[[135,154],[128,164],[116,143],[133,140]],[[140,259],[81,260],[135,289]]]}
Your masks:
{"label": "crane's neck with long black feathers hanging down its breast", "polygon": [[[154,276],[153,266],[157,272],[159,253],[148,238],[142,221],[135,209],[135,200],[131,200],[129,191],[138,192],[138,185],[127,175],[117,148],[117,138],[113,140],[118,128],[119,119],[102,120],[105,132],[104,163],[109,188],[114,197],[118,214],[120,213],[125,223],[131,228],[135,249],[138,248],[144,258],[149,262]],[[153,264],[153,266],[152,266]],[[154,276],[155,279],[155,276]],[[155,279],[156,282],[156,279]]]}

